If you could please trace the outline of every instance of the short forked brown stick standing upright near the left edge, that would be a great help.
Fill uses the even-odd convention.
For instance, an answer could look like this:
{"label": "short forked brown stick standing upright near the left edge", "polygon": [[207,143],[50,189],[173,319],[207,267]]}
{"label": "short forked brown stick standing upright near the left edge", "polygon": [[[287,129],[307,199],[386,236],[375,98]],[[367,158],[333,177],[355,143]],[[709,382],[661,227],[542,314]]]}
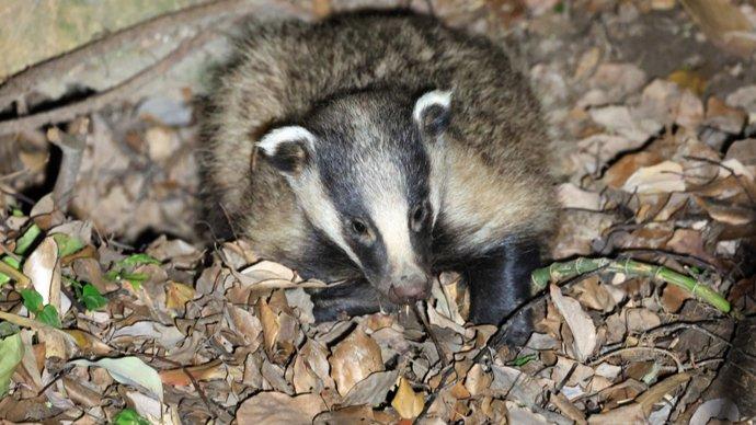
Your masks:
{"label": "short forked brown stick standing upright near the left edge", "polygon": [[76,177],[79,175],[81,159],[87,147],[85,135],[88,127],[89,118],[80,117],[71,123],[68,133],[62,133],[55,127],[47,131],[47,139],[62,151],[60,170],[53,189],[53,200],[62,211],[68,209],[68,203],[76,187]]}

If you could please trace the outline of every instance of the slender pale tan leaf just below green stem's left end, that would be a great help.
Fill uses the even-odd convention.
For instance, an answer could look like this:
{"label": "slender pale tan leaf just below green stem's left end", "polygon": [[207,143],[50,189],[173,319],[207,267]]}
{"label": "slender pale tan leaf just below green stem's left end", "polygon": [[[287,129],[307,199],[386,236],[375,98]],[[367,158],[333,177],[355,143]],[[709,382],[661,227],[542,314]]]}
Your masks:
{"label": "slender pale tan leaf just below green stem's left end", "polygon": [[573,352],[579,361],[585,361],[596,349],[596,326],[591,317],[583,311],[580,302],[562,295],[557,285],[549,288],[551,300],[564,318],[574,337]]}

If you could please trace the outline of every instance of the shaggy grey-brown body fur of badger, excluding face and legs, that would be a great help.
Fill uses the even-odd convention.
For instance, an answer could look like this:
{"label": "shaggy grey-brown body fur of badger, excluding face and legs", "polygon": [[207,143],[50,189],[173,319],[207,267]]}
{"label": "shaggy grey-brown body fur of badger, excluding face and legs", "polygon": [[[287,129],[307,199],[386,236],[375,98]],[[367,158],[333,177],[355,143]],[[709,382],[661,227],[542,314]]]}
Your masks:
{"label": "shaggy grey-brown body fur of badger, excluding face and legs", "polygon": [[[325,273],[316,276],[321,279],[359,278],[354,261],[310,222],[302,203],[318,200],[298,197],[293,181],[255,143],[290,124],[363,137],[364,130],[342,128],[347,118],[389,137],[397,130],[379,122],[404,123],[400,113],[410,114],[431,90],[451,92],[443,143],[425,143],[427,179],[440,197],[433,211],[434,272],[472,264],[500,248],[540,248],[551,233],[557,207],[539,105],[527,80],[488,39],[429,16],[354,13],[314,24],[253,24],[236,51],[211,92],[204,189],[211,219],[229,222],[261,256],[306,275]],[[394,148],[380,149],[401,156]]]}

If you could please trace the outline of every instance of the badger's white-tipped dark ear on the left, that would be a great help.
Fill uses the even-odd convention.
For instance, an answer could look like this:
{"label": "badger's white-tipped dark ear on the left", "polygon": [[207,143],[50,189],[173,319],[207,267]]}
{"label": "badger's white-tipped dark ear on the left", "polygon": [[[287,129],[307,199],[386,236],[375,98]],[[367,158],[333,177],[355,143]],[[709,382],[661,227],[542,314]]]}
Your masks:
{"label": "badger's white-tipped dark ear on the left", "polygon": [[296,175],[309,161],[314,141],[314,135],[305,127],[286,126],[268,131],[260,139],[257,148],[278,171]]}

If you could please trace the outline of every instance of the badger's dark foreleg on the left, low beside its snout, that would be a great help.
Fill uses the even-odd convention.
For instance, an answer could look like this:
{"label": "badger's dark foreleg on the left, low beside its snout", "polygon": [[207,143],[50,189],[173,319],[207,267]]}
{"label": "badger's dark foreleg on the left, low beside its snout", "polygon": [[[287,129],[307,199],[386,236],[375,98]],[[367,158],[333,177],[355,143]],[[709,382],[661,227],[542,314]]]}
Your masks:
{"label": "badger's dark foreleg on the left, low beside its snout", "polygon": [[397,306],[381,296],[366,279],[350,280],[310,291],[317,322],[337,320],[343,312],[348,317],[396,311]]}

